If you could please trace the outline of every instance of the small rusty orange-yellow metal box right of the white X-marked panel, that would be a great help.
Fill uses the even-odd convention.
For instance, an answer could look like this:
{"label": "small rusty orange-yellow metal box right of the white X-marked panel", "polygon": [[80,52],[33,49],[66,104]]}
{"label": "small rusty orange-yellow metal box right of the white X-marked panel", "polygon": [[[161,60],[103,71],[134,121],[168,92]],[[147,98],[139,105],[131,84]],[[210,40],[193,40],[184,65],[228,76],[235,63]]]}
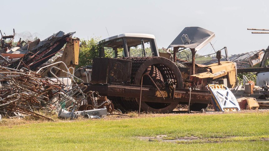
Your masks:
{"label": "small rusty orange-yellow metal box right of the white X-marked panel", "polygon": [[257,110],[259,108],[259,104],[255,98],[240,98],[237,99],[240,109],[242,110]]}

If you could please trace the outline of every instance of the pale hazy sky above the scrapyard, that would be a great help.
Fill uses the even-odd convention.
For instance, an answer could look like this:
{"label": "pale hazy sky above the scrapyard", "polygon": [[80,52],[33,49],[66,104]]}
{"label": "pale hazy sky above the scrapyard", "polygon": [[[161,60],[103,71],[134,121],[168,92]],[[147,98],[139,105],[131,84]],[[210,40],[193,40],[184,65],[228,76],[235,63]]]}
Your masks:
{"label": "pale hazy sky above the scrapyard", "polygon": [[[240,54],[269,45],[269,34],[247,30],[269,29],[268,6],[267,0],[2,0],[0,30],[11,35],[14,28],[41,40],[58,31],[76,31],[81,39],[145,33],[167,48],[184,27],[199,26],[215,33],[215,50],[226,46],[228,54]],[[212,52],[210,45],[198,51]]]}

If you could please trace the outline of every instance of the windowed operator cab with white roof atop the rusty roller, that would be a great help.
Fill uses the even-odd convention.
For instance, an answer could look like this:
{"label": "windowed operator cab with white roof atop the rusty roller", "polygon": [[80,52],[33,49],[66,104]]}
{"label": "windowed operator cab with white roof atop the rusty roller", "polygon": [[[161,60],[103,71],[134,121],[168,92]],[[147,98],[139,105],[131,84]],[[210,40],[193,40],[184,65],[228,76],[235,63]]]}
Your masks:
{"label": "windowed operator cab with white roof atop the rusty roller", "polygon": [[120,34],[97,43],[99,57],[151,57],[159,56],[154,35]]}

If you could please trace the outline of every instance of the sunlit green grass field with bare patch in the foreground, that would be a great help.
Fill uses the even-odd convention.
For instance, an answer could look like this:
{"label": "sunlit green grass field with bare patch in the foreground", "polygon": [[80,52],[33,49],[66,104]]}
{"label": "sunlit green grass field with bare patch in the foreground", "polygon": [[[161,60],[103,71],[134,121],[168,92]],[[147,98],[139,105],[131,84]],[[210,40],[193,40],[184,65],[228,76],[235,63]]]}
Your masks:
{"label": "sunlit green grass field with bare patch in the foreground", "polygon": [[4,124],[0,150],[269,150],[269,111]]}

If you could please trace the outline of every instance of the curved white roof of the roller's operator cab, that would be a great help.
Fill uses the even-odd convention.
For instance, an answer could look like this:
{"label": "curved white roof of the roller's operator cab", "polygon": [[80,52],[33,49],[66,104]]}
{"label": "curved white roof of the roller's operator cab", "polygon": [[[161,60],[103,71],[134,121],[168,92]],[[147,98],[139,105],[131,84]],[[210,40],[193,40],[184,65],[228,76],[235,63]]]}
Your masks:
{"label": "curved white roof of the roller's operator cab", "polygon": [[121,38],[121,37],[141,37],[141,38],[151,38],[151,39],[155,39],[155,36],[154,35],[151,35],[151,34],[136,34],[136,33],[125,33],[125,34],[120,34],[120,35],[115,35],[115,36],[112,36],[112,37],[108,37],[104,40],[101,40],[99,42],[97,42],[97,45],[100,43],[100,42],[105,42],[105,41],[109,41],[109,40],[113,40],[113,39],[117,39],[117,38]]}

